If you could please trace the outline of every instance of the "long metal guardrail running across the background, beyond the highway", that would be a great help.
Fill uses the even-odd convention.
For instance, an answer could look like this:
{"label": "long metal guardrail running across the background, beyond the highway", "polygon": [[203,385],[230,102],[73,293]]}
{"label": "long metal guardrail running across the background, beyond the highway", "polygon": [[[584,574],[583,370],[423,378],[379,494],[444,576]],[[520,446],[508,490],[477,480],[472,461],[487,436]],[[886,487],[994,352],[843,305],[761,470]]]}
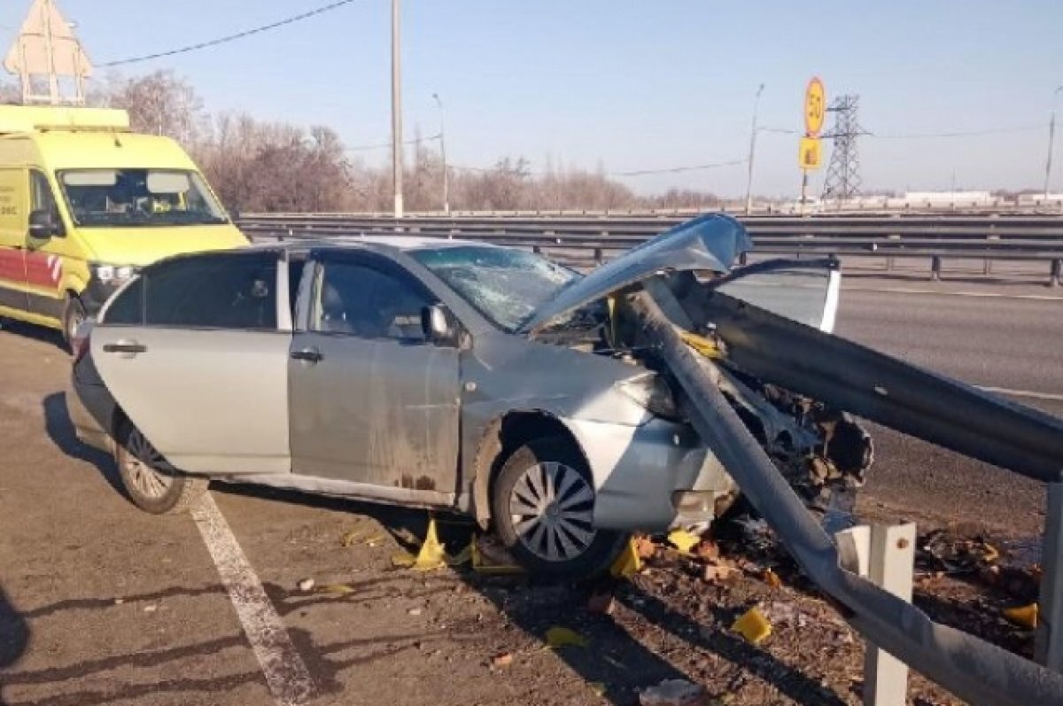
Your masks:
{"label": "long metal guardrail running across the background, beyond the highway", "polygon": [[[563,215],[500,217],[493,215],[385,216],[348,214],[249,214],[240,228],[257,238],[308,238],[367,235],[419,235],[468,238],[532,248],[559,259],[602,263],[690,214]],[[740,218],[753,236],[756,252],[771,255],[837,255],[930,262],[938,279],[947,259],[1041,262],[1049,283],[1063,274],[1063,216],[993,215],[822,215]]]}

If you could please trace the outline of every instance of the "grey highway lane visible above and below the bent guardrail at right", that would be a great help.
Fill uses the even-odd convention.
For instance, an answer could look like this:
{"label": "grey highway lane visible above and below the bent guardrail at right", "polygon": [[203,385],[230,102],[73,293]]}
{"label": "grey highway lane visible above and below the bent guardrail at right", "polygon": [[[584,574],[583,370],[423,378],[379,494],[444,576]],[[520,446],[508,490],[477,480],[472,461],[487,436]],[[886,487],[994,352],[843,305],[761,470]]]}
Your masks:
{"label": "grey highway lane visible above and below the bent guardrail at right", "polygon": [[[866,284],[861,283],[861,287]],[[980,288],[980,292],[992,291]],[[839,335],[1063,417],[1063,299],[843,292]],[[917,520],[977,521],[1017,535],[1041,531],[1043,487],[890,430],[874,427],[876,467],[865,502]]]}

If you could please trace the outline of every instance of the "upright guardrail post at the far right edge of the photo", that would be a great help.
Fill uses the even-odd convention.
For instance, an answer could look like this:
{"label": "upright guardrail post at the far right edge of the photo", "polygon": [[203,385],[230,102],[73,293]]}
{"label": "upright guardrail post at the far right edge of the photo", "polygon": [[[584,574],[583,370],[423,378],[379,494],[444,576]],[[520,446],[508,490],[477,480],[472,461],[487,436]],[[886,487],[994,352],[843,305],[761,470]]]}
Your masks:
{"label": "upright guardrail post at the far right edge of the photo", "polygon": [[1049,483],[1047,494],[1033,656],[1048,669],[1063,672],[1063,483]]}

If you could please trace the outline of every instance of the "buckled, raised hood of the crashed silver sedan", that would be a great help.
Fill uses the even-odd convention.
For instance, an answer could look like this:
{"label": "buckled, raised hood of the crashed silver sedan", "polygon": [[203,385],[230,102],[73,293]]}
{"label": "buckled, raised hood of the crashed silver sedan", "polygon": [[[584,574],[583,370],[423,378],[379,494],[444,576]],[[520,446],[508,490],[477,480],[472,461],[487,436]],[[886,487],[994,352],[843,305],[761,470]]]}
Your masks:
{"label": "buckled, raised hood of the crashed silver sedan", "polygon": [[557,292],[518,330],[533,332],[562,314],[644,280],[662,270],[727,272],[753,240],[736,219],[723,214],[698,216],[629,250]]}

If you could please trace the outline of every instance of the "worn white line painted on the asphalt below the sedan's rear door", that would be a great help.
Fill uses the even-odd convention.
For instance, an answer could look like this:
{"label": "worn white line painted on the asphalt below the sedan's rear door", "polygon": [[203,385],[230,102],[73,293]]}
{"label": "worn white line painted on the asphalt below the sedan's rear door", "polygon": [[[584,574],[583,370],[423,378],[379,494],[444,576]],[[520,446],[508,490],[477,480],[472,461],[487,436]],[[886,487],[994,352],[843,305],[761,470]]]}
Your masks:
{"label": "worn white line painted on the asphalt below the sedan's rear door", "polygon": [[314,679],[209,493],[204,493],[192,508],[192,519],[218,568],[218,575],[229,591],[276,703],[279,706],[305,703],[317,690]]}

